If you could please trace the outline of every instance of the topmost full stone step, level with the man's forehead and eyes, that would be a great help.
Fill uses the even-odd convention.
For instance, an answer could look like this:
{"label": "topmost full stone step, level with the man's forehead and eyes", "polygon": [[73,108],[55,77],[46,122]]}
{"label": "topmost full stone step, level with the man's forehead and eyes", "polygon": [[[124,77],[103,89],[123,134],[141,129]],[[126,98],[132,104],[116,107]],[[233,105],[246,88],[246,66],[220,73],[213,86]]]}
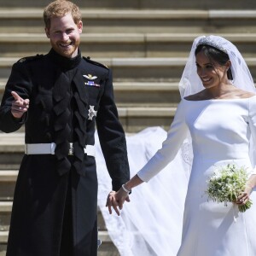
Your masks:
{"label": "topmost full stone step, level with the man's forehead and eyes", "polygon": [[[255,9],[196,9],[196,6],[194,8],[179,10],[82,9],[84,31],[86,33],[256,32]],[[2,7],[0,9],[0,32],[44,33],[42,15],[43,9]]]}

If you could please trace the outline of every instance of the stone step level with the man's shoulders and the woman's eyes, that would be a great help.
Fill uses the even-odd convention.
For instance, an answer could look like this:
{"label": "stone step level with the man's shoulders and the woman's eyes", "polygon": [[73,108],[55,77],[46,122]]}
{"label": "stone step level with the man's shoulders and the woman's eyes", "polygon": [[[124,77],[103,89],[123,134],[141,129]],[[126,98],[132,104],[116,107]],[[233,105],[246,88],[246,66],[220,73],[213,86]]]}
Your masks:
{"label": "stone step level with the man's shoulders and the woman's eyes", "polygon": [[[0,58],[0,77],[9,77],[11,66],[18,58]],[[173,58],[95,58],[112,68],[117,81],[178,80],[187,57]],[[256,57],[245,58],[253,77],[256,77]]]}

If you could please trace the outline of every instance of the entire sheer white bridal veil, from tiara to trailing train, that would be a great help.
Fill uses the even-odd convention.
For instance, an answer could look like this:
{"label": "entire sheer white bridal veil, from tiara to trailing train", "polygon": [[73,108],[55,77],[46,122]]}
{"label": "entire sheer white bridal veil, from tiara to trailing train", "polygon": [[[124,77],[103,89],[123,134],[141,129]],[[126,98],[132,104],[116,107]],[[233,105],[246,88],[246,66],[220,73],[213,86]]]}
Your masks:
{"label": "entire sheer white bridal veil, from tiara to trailing train", "polygon": [[[202,36],[195,38],[179,83],[182,97],[204,89],[195,67],[195,49],[198,44],[212,45],[226,52],[231,61],[232,83],[242,90],[255,92],[253,78],[236,46],[218,36]],[[133,177],[161,148],[161,143],[166,139],[166,131],[152,127],[126,139]],[[181,242],[183,203],[193,159],[189,135],[176,158],[162,172],[132,190],[131,202],[125,202],[120,217],[115,213],[109,215],[105,207],[111,181],[97,136],[96,148],[98,204],[109,236],[120,255],[176,256]]]}

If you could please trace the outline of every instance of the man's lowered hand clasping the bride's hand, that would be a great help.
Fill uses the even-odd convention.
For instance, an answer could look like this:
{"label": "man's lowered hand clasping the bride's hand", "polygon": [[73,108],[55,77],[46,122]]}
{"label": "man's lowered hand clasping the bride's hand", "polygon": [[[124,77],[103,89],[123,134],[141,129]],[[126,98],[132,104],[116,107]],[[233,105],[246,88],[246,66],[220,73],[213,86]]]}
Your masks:
{"label": "man's lowered hand clasping the bride's hand", "polygon": [[120,215],[119,210],[122,210],[124,202],[130,201],[128,193],[126,193],[122,188],[119,189],[118,192],[110,191],[108,194],[108,199],[106,203],[106,207],[108,207],[109,214],[112,214],[112,207],[113,210]]}

